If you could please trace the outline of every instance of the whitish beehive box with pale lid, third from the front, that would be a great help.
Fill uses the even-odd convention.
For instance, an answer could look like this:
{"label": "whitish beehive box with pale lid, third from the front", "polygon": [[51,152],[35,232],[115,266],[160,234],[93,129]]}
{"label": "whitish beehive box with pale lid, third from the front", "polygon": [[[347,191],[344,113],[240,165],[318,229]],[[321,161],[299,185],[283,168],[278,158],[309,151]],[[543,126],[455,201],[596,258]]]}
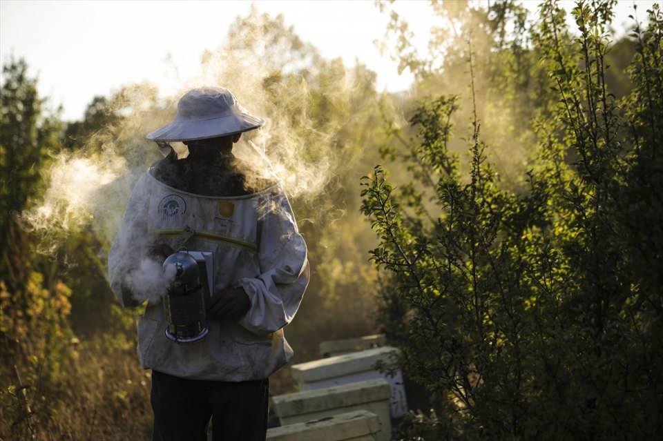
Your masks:
{"label": "whitish beehive box with pale lid, third from the front", "polygon": [[[394,364],[397,354],[398,349],[383,346],[295,364],[291,367],[291,373],[298,382],[301,391],[314,391],[326,387],[383,378],[389,382],[391,388],[390,408],[392,418],[400,418],[407,411],[407,400],[403,387],[403,374]],[[394,372],[390,374],[376,371],[378,362],[392,366]]]}

